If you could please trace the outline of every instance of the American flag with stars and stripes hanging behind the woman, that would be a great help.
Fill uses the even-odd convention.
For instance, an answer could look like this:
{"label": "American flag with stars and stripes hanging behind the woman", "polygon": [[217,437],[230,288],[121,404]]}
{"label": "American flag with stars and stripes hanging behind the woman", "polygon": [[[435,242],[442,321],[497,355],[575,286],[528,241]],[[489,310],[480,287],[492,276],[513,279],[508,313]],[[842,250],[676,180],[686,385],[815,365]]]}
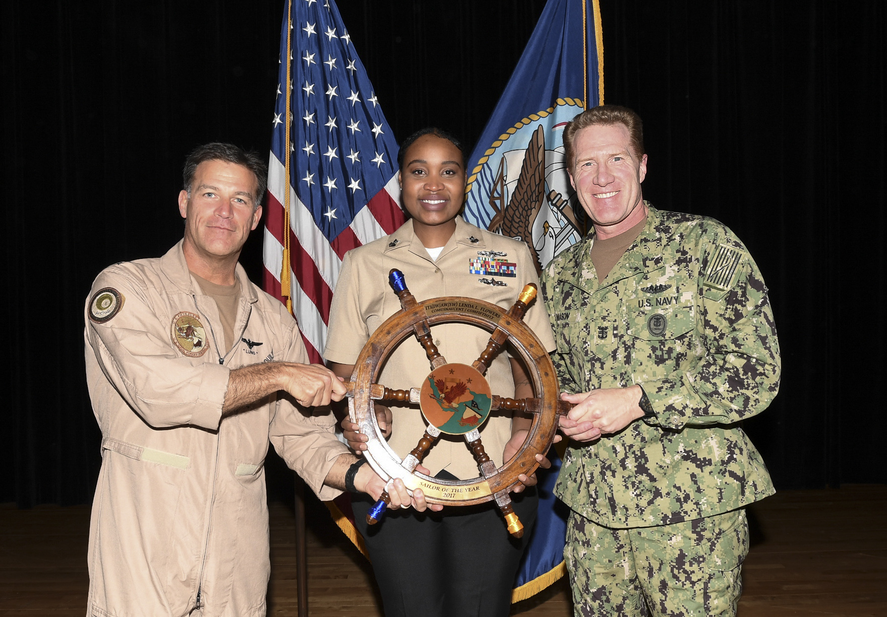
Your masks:
{"label": "American flag with stars and stripes hanging behind the woman", "polygon": [[397,143],[333,0],[287,0],[279,62],[263,286],[321,362],[342,257],[404,223]]}

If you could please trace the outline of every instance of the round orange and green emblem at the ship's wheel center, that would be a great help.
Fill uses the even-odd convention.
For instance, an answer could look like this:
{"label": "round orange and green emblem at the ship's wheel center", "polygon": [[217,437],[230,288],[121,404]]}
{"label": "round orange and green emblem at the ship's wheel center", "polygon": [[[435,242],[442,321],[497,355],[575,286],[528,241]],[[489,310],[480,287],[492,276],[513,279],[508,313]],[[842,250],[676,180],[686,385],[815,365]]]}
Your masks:
{"label": "round orange and green emblem at the ship's wheel center", "polygon": [[428,373],[419,407],[428,423],[443,433],[460,435],[481,426],[492,407],[490,385],[467,364],[444,364]]}

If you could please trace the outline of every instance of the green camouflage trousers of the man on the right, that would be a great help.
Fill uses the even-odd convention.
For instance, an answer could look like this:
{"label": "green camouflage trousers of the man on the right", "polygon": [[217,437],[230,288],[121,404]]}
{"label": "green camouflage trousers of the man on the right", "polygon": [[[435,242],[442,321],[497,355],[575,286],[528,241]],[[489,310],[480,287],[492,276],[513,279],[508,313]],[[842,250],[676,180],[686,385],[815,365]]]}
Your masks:
{"label": "green camouflage trousers of the man on the right", "polygon": [[611,529],[570,512],[563,556],[576,617],[735,615],[749,525],[739,509]]}

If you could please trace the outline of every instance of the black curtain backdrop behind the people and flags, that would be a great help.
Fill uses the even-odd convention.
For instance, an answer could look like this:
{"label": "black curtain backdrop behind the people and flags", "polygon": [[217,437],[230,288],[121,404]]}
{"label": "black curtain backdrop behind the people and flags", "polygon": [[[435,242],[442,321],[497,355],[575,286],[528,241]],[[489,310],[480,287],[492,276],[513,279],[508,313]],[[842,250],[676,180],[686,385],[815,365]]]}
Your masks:
{"label": "black curtain backdrop behind the people and flags", "polygon": [[[338,3],[397,137],[474,144],[544,2]],[[270,149],[283,0],[0,7],[6,473],[0,502],[90,501],[100,434],[82,307],[106,265],[181,237],[184,156]],[[884,482],[887,9],[601,0],[608,103],[645,121],[644,195],[710,215],[771,291],[781,394],[746,422],[778,488]],[[261,236],[242,262],[258,280]],[[272,484],[271,490],[276,485]]]}

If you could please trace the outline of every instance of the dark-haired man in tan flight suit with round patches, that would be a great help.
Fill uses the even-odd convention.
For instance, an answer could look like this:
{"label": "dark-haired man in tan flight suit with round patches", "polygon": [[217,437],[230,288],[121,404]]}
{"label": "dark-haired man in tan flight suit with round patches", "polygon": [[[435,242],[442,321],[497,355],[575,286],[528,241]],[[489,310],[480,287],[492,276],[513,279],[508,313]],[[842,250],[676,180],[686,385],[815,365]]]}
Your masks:
{"label": "dark-haired man in tan flight suit with round patches", "polygon": [[[102,467],[89,615],[264,615],[269,441],[321,499],[384,488],[352,467],[332,414],[309,409],[341,400],[341,380],[308,364],[292,316],[238,264],[265,177],[254,153],[196,149],[178,197],[184,239],[93,284],[84,338]],[[389,494],[410,503],[400,480]]]}

